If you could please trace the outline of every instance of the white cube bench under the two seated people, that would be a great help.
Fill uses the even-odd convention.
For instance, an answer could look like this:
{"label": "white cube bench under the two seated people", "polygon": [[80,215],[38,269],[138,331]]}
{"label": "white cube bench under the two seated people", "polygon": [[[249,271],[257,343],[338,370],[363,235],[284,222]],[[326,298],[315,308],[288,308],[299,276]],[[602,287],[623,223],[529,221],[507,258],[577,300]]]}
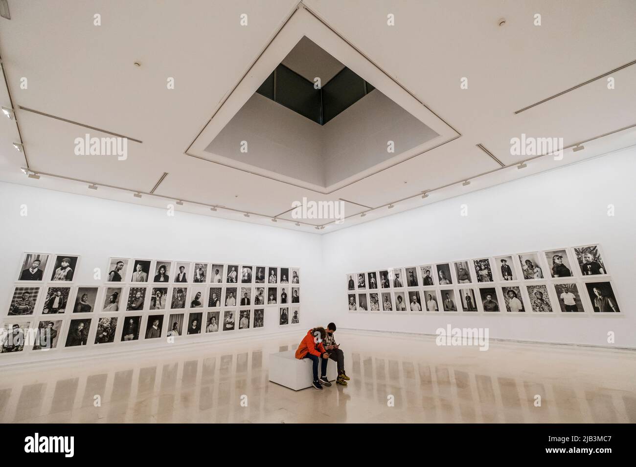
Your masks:
{"label": "white cube bench under the two seated people", "polygon": [[[312,361],[309,358],[298,360],[295,350],[270,353],[270,381],[298,391],[310,388],[314,380]],[[318,364],[318,376],[321,372],[321,363]],[[335,381],[338,377],[338,365],[329,359],[327,363],[327,379]]]}

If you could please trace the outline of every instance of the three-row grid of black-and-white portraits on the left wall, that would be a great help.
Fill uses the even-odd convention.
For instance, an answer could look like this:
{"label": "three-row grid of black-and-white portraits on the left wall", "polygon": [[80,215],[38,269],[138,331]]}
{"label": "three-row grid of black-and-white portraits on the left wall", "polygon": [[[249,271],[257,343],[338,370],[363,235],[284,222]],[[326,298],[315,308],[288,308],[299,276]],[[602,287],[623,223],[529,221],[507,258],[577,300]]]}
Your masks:
{"label": "three-row grid of black-and-white portraits on the left wall", "polygon": [[[81,348],[300,323],[298,267],[112,257],[100,283],[76,283],[79,255],[26,252],[0,353]],[[273,324],[272,324],[273,325]]]}

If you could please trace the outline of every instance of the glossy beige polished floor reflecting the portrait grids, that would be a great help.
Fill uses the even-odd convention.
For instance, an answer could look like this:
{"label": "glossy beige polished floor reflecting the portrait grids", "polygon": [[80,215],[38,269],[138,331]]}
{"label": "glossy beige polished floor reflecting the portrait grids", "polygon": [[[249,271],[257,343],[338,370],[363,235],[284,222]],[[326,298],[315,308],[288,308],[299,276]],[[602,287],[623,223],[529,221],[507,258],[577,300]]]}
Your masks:
{"label": "glossy beige polished floor reflecting the portrait grids", "polygon": [[293,334],[0,367],[0,422],[636,423],[633,351],[336,336],[351,381],[322,391],[268,382],[268,355],[295,349]]}

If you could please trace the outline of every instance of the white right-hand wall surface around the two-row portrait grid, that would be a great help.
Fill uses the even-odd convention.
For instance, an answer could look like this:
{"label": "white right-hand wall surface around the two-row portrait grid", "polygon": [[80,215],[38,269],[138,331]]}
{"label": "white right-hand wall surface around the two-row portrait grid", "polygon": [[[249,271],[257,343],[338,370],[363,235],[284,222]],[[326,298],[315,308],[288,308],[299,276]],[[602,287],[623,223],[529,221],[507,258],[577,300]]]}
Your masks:
{"label": "white right-hand wall surface around the two-row portrait grid", "polygon": [[[631,147],[325,234],[323,307],[343,328],[435,334],[450,324],[488,328],[491,338],[636,348],[635,174],[636,148]],[[466,216],[461,215],[462,205]],[[608,215],[610,205],[614,215]],[[599,243],[604,252],[621,308],[616,315],[561,313],[556,304],[549,316],[531,311],[416,315],[347,309],[350,273],[591,243]],[[608,332],[615,333],[615,343],[607,342]]]}

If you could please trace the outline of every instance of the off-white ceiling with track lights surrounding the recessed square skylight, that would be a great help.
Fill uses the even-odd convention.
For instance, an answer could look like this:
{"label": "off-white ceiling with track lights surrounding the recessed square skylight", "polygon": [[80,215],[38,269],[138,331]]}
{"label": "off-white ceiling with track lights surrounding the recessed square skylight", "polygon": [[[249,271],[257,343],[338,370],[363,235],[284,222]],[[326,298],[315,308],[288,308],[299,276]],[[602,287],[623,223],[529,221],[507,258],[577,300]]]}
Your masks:
{"label": "off-white ceiling with track lights surrounding the recessed square skylight", "polygon": [[[562,161],[548,156],[530,161],[523,170],[512,166],[474,178],[499,168],[476,144],[511,165],[520,157],[511,156],[509,140],[522,133],[562,137],[570,146],[636,124],[636,65],[611,75],[612,90],[602,78],[514,113],[635,60],[632,0],[303,4],[460,137],[329,194],[187,156],[191,142],[277,36],[298,1],[9,0],[11,20],[0,18],[0,54],[14,107],[142,143],[128,142],[126,161],[75,156],[76,137],[101,134],[18,109],[31,170],[102,186],[93,191],[84,182],[25,177],[20,172],[24,155],[11,146],[19,141],[17,128],[4,118],[0,179],[153,206],[183,199],[179,210],[312,232],[317,231],[305,223],[318,226],[324,220],[304,220],[299,227],[284,221],[291,219],[289,213],[276,224],[270,217],[289,211],[303,197],[350,201],[345,215],[353,217],[320,231],[327,233],[636,144],[631,128],[588,142],[584,151],[566,150]],[[101,15],[100,26],[93,25],[95,13]],[[247,26],[240,25],[242,13]],[[395,15],[394,26],[387,26],[389,13]],[[536,13],[541,26],[533,24]],[[499,27],[502,17],[506,24]],[[26,90],[20,88],[23,77],[28,79]],[[467,90],[460,89],[462,77],[468,79]],[[167,90],[168,78],[174,78],[174,90]],[[3,83],[0,104],[10,107]],[[164,172],[169,175],[155,191],[160,197],[133,198],[130,191],[148,193]],[[460,182],[466,179],[472,182],[464,187]],[[426,200],[417,196],[439,187]],[[413,196],[391,210],[385,207]],[[211,212],[205,205],[230,210]],[[364,218],[357,215],[368,208],[377,209]],[[251,217],[243,217],[244,212]]]}

